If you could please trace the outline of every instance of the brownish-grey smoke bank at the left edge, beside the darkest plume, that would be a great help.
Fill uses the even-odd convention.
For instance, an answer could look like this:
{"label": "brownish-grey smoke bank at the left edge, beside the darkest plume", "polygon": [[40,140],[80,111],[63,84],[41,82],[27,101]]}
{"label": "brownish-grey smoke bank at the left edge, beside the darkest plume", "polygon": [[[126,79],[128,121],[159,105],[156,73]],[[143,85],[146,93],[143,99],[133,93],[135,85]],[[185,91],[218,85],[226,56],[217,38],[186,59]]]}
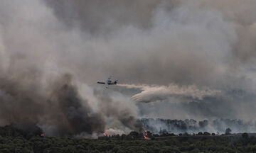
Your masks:
{"label": "brownish-grey smoke bank at the left edge, beside the darkest plume", "polygon": [[[29,76],[27,76],[29,77]],[[36,79],[31,77],[30,79]],[[14,77],[1,76],[0,79],[0,123],[36,124],[43,115],[46,97],[40,94],[38,84]]]}

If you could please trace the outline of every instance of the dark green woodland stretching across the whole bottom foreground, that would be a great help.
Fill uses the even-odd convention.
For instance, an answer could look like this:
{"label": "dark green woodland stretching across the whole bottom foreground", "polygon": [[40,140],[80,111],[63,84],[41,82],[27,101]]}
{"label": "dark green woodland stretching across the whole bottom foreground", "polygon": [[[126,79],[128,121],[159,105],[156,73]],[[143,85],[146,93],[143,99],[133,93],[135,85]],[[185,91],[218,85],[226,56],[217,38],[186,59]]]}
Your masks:
{"label": "dark green woodland stretching across the whole bottom foreground", "polygon": [[[168,136],[166,137],[167,134]],[[196,135],[208,135],[206,132]],[[256,137],[239,136],[154,135],[149,131],[129,135],[103,136],[98,139],[76,137],[42,137],[41,131],[26,132],[12,125],[0,128],[0,152],[18,153],[128,153],[128,152],[256,152]],[[145,139],[145,137],[149,139]],[[159,136],[161,139],[159,139]]]}

